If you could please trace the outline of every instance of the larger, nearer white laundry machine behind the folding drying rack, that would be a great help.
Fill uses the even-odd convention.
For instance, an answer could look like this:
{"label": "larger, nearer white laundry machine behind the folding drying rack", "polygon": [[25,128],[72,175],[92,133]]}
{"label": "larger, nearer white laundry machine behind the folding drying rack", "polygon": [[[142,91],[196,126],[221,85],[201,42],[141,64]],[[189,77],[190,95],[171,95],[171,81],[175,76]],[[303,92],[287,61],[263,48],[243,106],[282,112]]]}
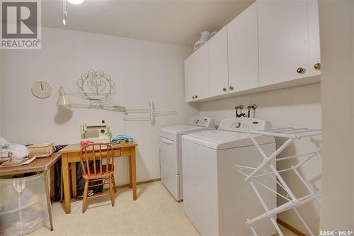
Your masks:
{"label": "larger, nearer white laundry machine behind the folding drying rack", "polygon": [[[183,205],[185,214],[201,235],[253,235],[246,219],[265,210],[245,176],[234,165],[257,167],[263,161],[247,130],[264,130],[269,123],[253,118],[222,120],[218,130],[183,135]],[[253,135],[265,154],[275,151],[274,137]],[[268,170],[267,170],[268,171]],[[248,169],[244,172],[249,172]],[[271,178],[258,178],[276,191]],[[256,184],[257,186],[257,184]],[[263,189],[262,189],[263,188]],[[268,208],[276,196],[257,186]],[[270,220],[253,223],[258,235],[274,235]]]}

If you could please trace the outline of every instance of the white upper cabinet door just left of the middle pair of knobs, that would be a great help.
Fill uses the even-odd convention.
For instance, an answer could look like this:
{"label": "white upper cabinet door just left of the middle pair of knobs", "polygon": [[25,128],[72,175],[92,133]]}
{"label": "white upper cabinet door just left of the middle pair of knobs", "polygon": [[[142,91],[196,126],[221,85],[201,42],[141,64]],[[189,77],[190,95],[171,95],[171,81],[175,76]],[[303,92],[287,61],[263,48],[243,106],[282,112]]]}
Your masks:
{"label": "white upper cabinet door just left of the middle pair of knobs", "polygon": [[208,42],[209,96],[227,94],[227,27],[214,35]]}

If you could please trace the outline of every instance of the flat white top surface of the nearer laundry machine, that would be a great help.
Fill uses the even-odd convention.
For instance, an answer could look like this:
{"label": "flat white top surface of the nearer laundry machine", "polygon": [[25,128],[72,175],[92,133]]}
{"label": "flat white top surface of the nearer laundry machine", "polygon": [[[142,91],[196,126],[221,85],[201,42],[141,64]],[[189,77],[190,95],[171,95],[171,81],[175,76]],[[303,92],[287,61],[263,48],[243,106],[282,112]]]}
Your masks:
{"label": "flat white top surface of the nearer laundry machine", "polygon": [[[258,144],[275,142],[274,137],[253,135]],[[235,147],[253,146],[248,133],[227,130],[205,130],[198,133],[183,135],[182,140],[194,142],[198,145],[210,147],[215,150],[224,150]]]}

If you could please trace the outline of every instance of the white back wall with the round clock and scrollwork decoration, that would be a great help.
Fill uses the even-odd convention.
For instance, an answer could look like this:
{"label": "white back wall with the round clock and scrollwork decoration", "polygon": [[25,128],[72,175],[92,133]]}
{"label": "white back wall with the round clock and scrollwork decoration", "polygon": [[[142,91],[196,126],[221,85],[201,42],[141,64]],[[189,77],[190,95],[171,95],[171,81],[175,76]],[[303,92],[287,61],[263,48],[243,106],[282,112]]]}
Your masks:
{"label": "white back wall with the round clock and scrollwork decoration", "polygon": [[[184,102],[183,60],[190,47],[180,47],[108,35],[55,28],[42,29],[41,50],[4,50],[1,63],[3,135],[22,144],[80,141],[81,123],[110,125],[113,135],[126,131],[135,137],[137,181],[156,179],[159,172],[159,128],[185,123],[198,114],[198,105]],[[173,116],[147,121],[124,122],[123,114],[88,108],[58,108],[58,89],[76,91],[76,81],[89,69],[102,69],[116,83],[113,102],[124,105],[147,105],[176,110]],[[31,93],[33,82],[52,84],[48,99]],[[82,103],[80,99],[73,99]],[[118,184],[128,182],[127,159],[118,162]]]}

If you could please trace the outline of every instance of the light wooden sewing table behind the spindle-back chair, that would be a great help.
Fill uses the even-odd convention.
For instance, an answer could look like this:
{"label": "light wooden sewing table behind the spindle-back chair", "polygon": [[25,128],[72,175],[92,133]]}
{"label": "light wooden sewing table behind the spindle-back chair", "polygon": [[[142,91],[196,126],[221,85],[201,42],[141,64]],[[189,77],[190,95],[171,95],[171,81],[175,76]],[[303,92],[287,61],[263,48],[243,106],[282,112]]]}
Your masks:
{"label": "light wooden sewing table behind the spindle-back chair", "polygon": [[[123,144],[112,144],[114,157],[130,157],[130,188],[132,188],[133,200],[137,200],[137,178],[136,178],[136,163],[135,163],[135,147],[136,142],[127,142]],[[69,182],[69,164],[80,162],[79,144],[67,145],[59,152],[62,154],[62,176],[64,184],[64,209],[65,213],[69,214],[70,206],[70,182]],[[72,164],[72,190],[73,196],[76,196],[76,164]]]}

